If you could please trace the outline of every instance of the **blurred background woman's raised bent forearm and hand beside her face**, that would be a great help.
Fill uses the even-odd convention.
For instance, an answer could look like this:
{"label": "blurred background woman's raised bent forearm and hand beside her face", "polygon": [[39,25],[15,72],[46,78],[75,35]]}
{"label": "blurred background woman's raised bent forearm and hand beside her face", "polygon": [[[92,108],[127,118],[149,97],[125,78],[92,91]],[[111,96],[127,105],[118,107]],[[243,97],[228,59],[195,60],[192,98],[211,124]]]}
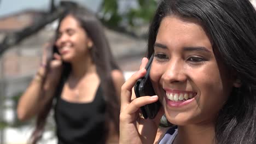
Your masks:
{"label": "blurred background woman's raised bent forearm and hand beside her face", "polygon": [[[37,115],[44,105],[53,98],[62,68],[60,56],[55,55],[54,57],[55,60],[50,62],[49,73],[46,74],[45,67],[40,67],[30,86],[22,94],[17,107],[18,118],[21,121]],[[44,77],[45,82],[43,83]]]}

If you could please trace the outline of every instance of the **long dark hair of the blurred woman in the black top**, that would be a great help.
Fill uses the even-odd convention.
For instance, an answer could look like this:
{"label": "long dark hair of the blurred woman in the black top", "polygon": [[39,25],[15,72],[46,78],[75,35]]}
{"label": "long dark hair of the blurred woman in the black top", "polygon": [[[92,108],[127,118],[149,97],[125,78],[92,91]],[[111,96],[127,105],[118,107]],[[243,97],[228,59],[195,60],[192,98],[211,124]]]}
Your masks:
{"label": "long dark hair of the blurred woman in the black top", "polygon": [[[113,69],[119,69],[118,65],[115,63],[112,53],[110,52],[110,47],[106,35],[104,34],[103,26],[101,22],[98,21],[95,15],[93,15],[89,10],[85,8],[73,8],[70,9],[65,16],[72,15],[78,20],[80,26],[86,31],[89,37],[92,39],[94,45],[90,49],[92,56],[92,61],[96,65],[97,74],[101,79],[101,86],[104,92],[104,98],[106,100],[106,136],[108,135],[109,122],[114,124],[114,130],[119,134],[119,113],[120,113],[120,103],[117,97],[117,93],[112,80],[111,71]],[[63,16],[62,19],[65,17]],[[60,22],[62,21],[60,20]],[[56,30],[56,37],[59,31],[59,27]],[[57,52],[56,46],[53,48],[54,52]],[[49,63],[49,62],[48,62]],[[49,64],[48,64],[49,65]],[[69,63],[63,62],[63,71],[59,85],[56,88],[55,95],[60,95],[63,83],[67,79],[69,73],[71,72],[71,65]],[[45,80],[43,80],[44,82]],[[43,94],[42,94],[43,97]],[[40,110],[36,129],[32,134],[32,143],[36,143],[42,136],[45,121],[47,115],[52,107],[53,100],[47,104],[43,110]],[[106,139],[106,138],[105,138]]]}

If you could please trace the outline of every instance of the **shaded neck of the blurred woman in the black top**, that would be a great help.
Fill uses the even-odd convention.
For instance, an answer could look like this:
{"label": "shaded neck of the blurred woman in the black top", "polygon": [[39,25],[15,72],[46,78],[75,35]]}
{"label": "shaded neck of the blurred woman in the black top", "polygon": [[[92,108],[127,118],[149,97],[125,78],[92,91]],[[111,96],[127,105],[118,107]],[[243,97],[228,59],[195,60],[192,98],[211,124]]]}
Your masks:
{"label": "shaded neck of the blurred woman in the black top", "polygon": [[71,76],[76,79],[80,79],[86,74],[96,73],[96,65],[92,62],[90,56],[86,56],[83,59],[80,58],[79,61],[71,63],[71,67]]}

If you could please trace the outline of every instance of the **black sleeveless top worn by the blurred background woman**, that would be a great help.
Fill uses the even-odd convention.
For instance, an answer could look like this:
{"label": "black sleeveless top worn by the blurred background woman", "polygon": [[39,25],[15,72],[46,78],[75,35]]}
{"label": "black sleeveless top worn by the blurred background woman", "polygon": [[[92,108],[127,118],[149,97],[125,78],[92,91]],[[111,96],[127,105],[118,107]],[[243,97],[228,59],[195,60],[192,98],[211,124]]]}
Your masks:
{"label": "black sleeveless top worn by the blurred background woman", "polygon": [[101,86],[91,103],[71,103],[57,97],[55,121],[58,143],[104,143],[105,107]]}

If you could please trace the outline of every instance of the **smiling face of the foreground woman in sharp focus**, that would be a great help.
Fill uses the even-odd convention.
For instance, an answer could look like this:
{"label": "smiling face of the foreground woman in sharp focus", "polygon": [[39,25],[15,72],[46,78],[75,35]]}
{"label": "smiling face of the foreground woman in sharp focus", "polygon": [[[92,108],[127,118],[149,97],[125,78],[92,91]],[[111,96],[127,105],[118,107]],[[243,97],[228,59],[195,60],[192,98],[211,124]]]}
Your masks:
{"label": "smiling face of the foreground woman in sharp focus", "polygon": [[234,80],[214,55],[200,23],[175,16],[162,19],[154,55],[150,77],[168,121],[214,122]]}

